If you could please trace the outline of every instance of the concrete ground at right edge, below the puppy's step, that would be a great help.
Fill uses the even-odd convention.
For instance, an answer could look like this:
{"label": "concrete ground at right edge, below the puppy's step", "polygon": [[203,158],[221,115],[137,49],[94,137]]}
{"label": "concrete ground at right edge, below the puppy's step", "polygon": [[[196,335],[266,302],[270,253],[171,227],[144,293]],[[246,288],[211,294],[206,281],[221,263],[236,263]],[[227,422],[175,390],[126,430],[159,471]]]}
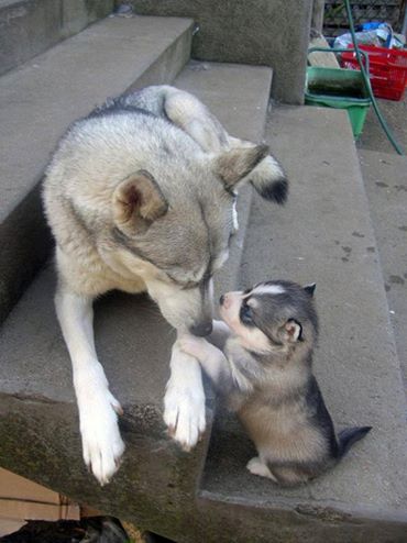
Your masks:
{"label": "concrete ground at right edge, below the puppy's step", "polygon": [[[378,100],[398,145],[407,154],[407,92],[404,100]],[[398,357],[407,391],[407,157],[398,156],[371,108],[356,143],[375,231]]]}

